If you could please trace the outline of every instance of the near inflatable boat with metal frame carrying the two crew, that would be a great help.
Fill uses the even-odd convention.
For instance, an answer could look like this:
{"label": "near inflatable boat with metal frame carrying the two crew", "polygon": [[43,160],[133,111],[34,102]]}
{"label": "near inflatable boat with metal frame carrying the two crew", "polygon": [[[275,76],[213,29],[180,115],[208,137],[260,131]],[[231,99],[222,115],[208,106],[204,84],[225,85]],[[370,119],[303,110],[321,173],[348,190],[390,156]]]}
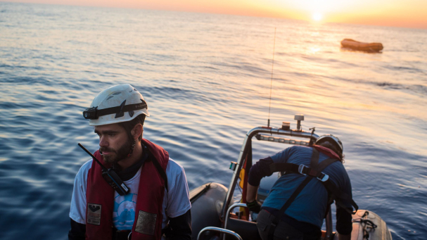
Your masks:
{"label": "near inflatable boat with metal frame carrying the two crew", "polygon": [[[305,132],[300,127],[303,115],[295,115],[297,129],[291,130],[289,122],[283,122],[281,128],[255,127],[246,134],[237,162],[231,162],[233,176],[229,187],[210,182],[190,191],[192,240],[261,240],[253,214],[246,207],[246,183],[248,170],[252,162],[252,141],[268,141],[272,144],[291,144],[311,146],[319,137]],[[286,146],[284,147],[286,148]],[[283,149],[284,149],[283,148]],[[278,173],[264,177],[257,193],[257,201],[267,198]],[[240,191],[234,191],[235,189]],[[357,201],[357,199],[355,199]],[[322,231],[322,240],[338,240],[333,232],[331,210],[326,215],[326,231]],[[352,240],[391,240],[391,234],[385,221],[369,210],[357,210],[352,215]]]}

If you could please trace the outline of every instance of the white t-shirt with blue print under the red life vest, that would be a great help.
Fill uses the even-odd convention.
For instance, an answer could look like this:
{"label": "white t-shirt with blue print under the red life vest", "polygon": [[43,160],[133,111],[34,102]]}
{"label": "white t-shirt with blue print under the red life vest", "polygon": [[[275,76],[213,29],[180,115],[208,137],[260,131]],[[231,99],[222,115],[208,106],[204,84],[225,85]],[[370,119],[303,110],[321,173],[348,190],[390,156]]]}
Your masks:
{"label": "white t-shirt with blue print under the red life vest", "polygon": [[[92,166],[92,160],[82,165],[74,180],[72,191],[70,217],[75,222],[86,224],[86,188],[87,174]],[[136,198],[138,196],[139,177],[141,168],[132,179],[124,181],[131,189],[126,196],[120,196],[115,191],[113,224],[118,230],[132,230],[135,220]],[[184,168],[169,158],[166,167],[167,187],[163,196],[162,229],[169,222],[168,217],[178,217],[191,208],[189,199],[189,186],[187,184]]]}

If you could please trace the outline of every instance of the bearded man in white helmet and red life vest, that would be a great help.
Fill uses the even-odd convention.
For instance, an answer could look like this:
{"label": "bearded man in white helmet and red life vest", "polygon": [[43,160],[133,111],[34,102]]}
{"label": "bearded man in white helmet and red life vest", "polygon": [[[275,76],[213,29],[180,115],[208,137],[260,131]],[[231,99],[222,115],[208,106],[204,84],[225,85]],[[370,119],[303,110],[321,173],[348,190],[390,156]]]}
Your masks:
{"label": "bearded man in white helmet and red life vest", "polygon": [[191,239],[184,168],[142,138],[149,113],[139,91],[130,84],[105,89],[83,116],[99,136],[94,156],[108,174],[95,160],[80,168],[68,239]]}

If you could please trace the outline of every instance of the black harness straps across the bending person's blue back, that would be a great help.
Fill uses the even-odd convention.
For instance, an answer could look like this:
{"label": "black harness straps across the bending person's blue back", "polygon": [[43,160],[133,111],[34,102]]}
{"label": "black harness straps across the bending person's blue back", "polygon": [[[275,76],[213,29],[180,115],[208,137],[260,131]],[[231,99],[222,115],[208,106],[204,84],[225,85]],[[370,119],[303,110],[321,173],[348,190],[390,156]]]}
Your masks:
{"label": "black harness straps across the bending person's blue back", "polygon": [[[274,230],[276,229],[276,226],[279,224],[281,216],[283,213],[285,213],[286,209],[291,206],[293,201],[295,201],[295,198],[300,194],[302,189],[304,189],[305,186],[315,177],[317,178],[326,188],[329,194],[329,203],[332,203],[333,200],[336,201],[336,204],[340,206],[341,208],[344,208],[348,213],[355,214],[357,212],[357,209],[359,209],[359,206],[353,201],[351,196],[348,194],[345,194],[344,192],[340,191],[338,187],[336,187],[333,182],[331,182],[331,179],[329,179],[329,175],[324,174],[323,171],[327,166],[331,165],[332,163],[336,162],[338,159],[336,158],[328,158],[321,163],[319,163],[319,151],[317,149],[313,148],[312,153],[312,159],[310,161],[310,168],[306,165],[296,165],[293,163],[273,163],[269,165],[270,172],[285,172],[285,174],[291,174],[291,173],[297,173],[301,175],[307,175],[307,177],[302,181],[302,183],[295,189],[293,194],[288,198],[288,201],[281,207],[279,210],[279,214],[274,217],[274,220],[272,221],[272,225],[269,229],[268,239],[273,239],[274,236]],[[347,207],[343,205],[341,202],[342,200],[350,201],[352,206],[355,208],[354,211],[350,211]]]}

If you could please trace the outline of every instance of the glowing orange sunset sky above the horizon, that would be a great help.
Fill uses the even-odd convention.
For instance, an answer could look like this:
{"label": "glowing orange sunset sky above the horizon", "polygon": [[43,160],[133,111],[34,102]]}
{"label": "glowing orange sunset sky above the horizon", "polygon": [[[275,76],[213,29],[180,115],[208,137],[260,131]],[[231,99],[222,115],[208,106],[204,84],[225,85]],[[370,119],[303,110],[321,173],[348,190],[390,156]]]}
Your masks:
{"label": "glowing orange sunset sky above the horizon", "polygon": [[[2,0],[0,0],[2,1]],[[10,0],[9,0],[10,1]],[[12,0],[13,1],[13,0]],[[427,0],[18,0],[40,4],[146,8],[427,29]]]}

